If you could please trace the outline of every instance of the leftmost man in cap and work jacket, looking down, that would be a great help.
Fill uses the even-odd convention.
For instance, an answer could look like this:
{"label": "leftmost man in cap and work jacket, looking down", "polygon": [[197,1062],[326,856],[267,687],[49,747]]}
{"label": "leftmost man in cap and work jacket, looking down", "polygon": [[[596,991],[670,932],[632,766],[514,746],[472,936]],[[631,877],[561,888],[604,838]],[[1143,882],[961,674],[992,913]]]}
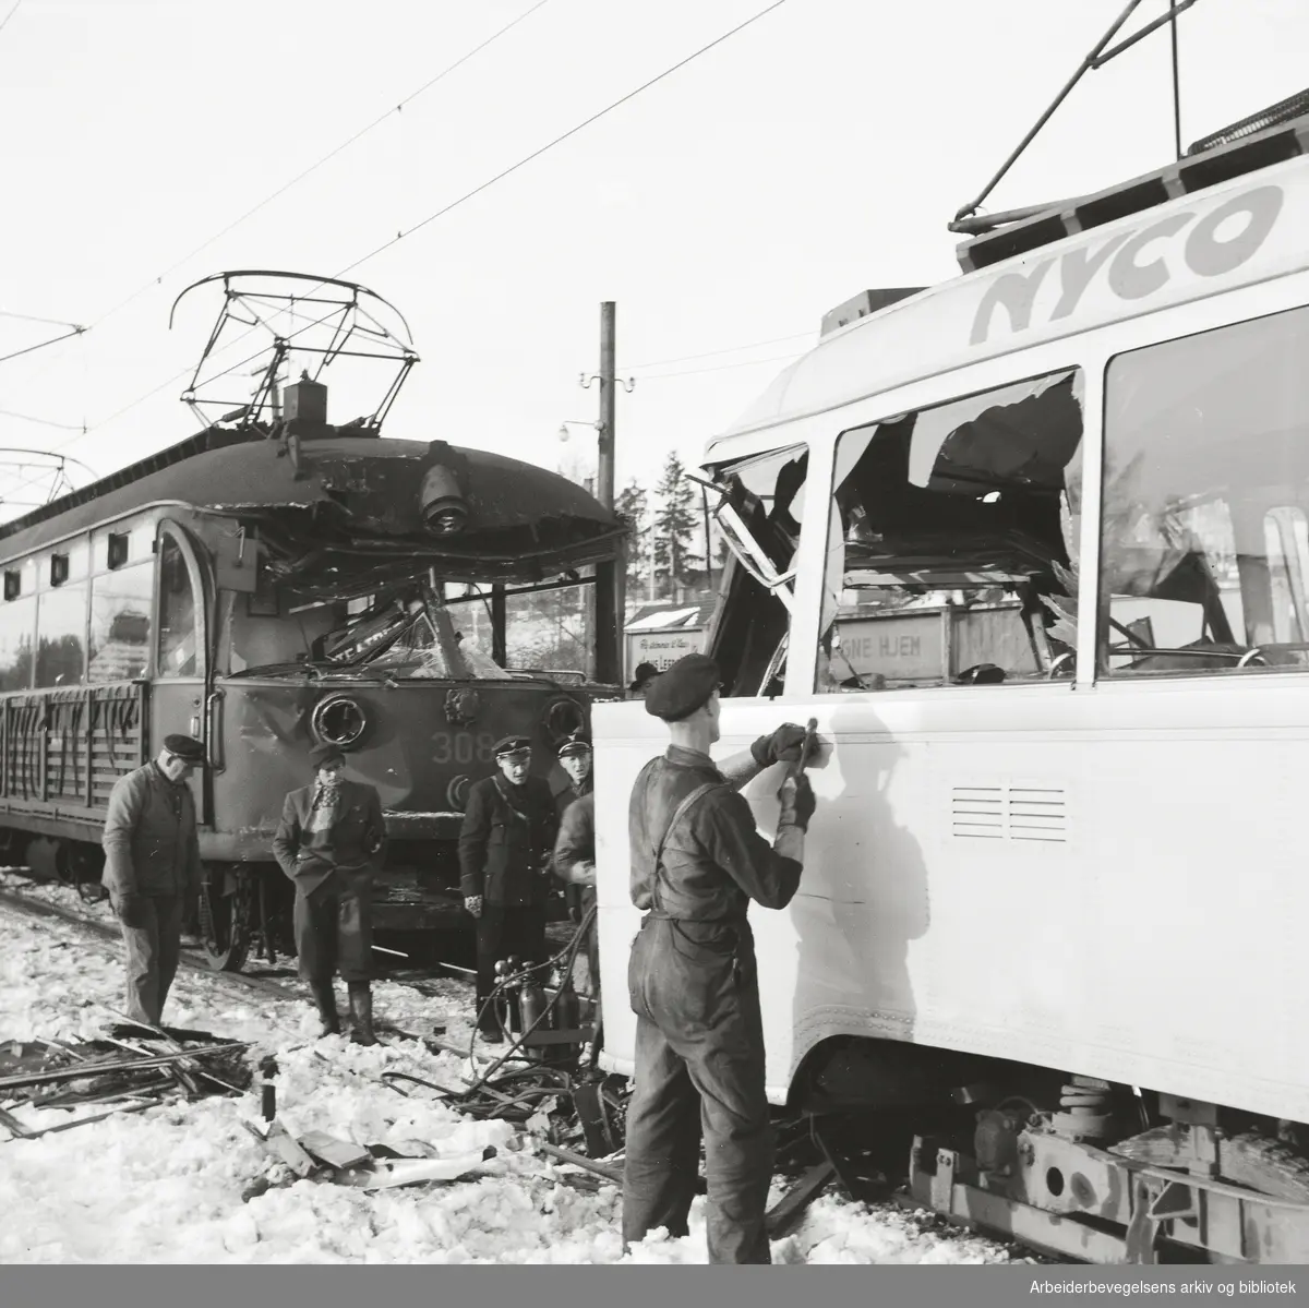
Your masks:
{"label": "leftmost man in cap and work jacket, looking down", "polygon": [[158,758],[120,776],[105,816],[103,882],[127,947],[127,1016],[157,1026],[177,975],[182,920],[200,893],[195,800],[204,746],[166,736]]}

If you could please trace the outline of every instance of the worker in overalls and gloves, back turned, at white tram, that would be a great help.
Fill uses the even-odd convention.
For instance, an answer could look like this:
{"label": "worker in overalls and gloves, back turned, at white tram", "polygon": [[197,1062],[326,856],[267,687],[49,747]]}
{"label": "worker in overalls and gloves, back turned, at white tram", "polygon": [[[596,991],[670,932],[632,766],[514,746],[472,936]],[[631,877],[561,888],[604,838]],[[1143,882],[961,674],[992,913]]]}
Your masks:
{"label": "worker in overalls and gloves, back turned, at white tram", "polygon": [[737,791],[796,759],[805,732],[783,725],[715,766],[719,668],[699,653],[653,683],[645,708],[668,723],[672,745],[637,776],[628,816],[632,902],[645,917],[628,962],[636,1070],[623,1241],[656,1227],[686,1235],[703,1126],[709,1261],[770,1262],[772,1130],[746,907],[791,902],[814,799],[802,774],[783,780],[770,847]]}

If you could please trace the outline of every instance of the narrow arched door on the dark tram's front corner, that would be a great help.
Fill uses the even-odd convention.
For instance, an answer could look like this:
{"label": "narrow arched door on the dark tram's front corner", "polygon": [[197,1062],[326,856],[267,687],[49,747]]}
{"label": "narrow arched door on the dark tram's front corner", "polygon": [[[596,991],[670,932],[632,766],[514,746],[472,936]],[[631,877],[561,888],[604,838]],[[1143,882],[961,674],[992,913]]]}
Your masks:
{"label": "narrow arched door on the dark tram's front corner", "polygon": [[[191,538],[169,518],[160,522],[157,554],[152,758],[164,748],[165,736],[192,736],[208,744],[204,572]],[[191,790],[200,822],[212,822],[212,790],[203,769],[192,774]]]}

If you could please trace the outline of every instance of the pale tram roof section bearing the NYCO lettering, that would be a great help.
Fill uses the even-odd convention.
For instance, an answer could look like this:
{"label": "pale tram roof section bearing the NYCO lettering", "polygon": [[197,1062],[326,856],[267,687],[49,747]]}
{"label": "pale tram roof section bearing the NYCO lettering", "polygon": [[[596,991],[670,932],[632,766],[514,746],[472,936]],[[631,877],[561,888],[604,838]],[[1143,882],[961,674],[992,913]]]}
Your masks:
{"label": "pale tram roof section bearing the NYCO lettering", "polygon": [[[1309,117],[1215,154],[1224,166],[1200,156],[1018,224],[1020,253],[823,336],[704,462],[772,448],[771,431],[776,444],[835,439],[885,416],[881,397],[910,382],[1309,267]],[[1123,216],[1106,221],[1115,203]]]}

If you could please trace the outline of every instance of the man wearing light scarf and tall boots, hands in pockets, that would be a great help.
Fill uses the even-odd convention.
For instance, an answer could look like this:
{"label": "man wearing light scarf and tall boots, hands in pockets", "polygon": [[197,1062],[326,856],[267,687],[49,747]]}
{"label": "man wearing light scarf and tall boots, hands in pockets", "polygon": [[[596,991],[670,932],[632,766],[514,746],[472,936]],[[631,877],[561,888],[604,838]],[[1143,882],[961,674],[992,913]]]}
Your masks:
{"label": "man wearing light scarf and tall boots, hands in pockets", "polygon": [[386,852],[381,796],[342,776],[346,755],[335,745],[309,752],[314,782],[281,805],[272,852],[296,886],[295,931],[300,975],[322,1020],[322,1034],[340,1033],[332,975],[350,995],[356,1045],[376,1045],[373,1032],[373,873]]}

